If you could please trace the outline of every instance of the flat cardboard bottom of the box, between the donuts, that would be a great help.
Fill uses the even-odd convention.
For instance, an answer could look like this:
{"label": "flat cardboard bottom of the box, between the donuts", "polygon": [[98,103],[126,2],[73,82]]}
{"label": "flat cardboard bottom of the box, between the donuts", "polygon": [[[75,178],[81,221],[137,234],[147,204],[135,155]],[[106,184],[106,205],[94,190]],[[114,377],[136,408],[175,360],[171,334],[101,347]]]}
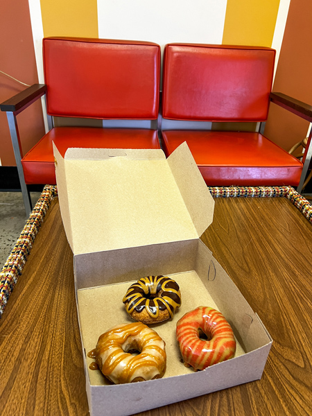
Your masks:
{"label": "flat cardboard bottom of the box, between the donuts", "polygon": [[[218,309],[218,306],[205,289],[202,281],[195,271],[171,275],[177,281],[182,295],[182,305],[177,309],[172,320],[159,324],[150,325],[166,343],[167,365],[164,377],[178,376],[192,373],[181,363],[182,356],[175,338],[175,327],[177,320],[182,318],[184,313],[195,309],[200,305],[209,305]],[[128,287],[133,281],[121,284],[98,286],[97,288],[81,289],[78,291],[78,303],[80,309],[80,324],[82,327],[83,345],[85,351],[89,352],[95,348],[98,336],[111,327],[121,323],[134,322],[122,303]],[[196,288],[196,290],[194,290]],[[187,293],[187,295],[186,295]],[[104,301],[103,301],[104,300]],[[92,304],[92,309],[89,305]],[[239,343],[236,345],[236,356],[244,354]],[[87,358],[87,365],[94,360]],[[89,379],[92,385],[110,385],[99,370],[90,370],[88,367]]]}

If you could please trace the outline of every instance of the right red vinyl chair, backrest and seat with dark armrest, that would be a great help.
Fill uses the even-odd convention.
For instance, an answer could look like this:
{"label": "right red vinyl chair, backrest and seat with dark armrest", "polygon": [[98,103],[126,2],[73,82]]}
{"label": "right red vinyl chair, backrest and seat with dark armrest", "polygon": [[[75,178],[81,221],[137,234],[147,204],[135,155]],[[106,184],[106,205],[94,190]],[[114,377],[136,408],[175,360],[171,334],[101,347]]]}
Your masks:
{"label": "right red vinyl chair, backrest and seat with dark armrest", "polygon": [[[312,121],[312,107],[271,93],[274,64],[275,50],[270,48],[167,44],[162,117],[179,121],[256,122],[262,123],[262,131],[270,101],[274,101]],[[302,187],[302,162],[259,131],[163,129],[162,141],[166,155],[187,141],[210,186]]]}

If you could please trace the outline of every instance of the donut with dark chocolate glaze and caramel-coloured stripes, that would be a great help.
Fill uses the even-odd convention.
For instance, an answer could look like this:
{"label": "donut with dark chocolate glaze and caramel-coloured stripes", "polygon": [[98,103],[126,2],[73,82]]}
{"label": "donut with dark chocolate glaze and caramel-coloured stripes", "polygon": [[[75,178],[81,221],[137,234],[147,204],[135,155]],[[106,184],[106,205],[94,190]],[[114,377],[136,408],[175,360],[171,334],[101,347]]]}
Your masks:
{"label": "donut with dark chocolate glaze and caramel-coloured stripes", "polygon": [[123,303],[134,320],[144,324],[162,322],[173,318],[181,305],[180,288],[170,277],[142,277],[128,288]]}

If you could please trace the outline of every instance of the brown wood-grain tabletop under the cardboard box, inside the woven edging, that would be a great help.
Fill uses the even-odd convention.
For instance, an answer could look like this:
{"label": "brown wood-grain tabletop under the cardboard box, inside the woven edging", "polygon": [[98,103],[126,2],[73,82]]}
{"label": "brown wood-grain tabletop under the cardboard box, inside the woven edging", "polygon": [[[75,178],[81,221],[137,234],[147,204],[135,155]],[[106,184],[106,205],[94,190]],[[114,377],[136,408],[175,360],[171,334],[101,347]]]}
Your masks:
{"label": "brown wood-grain tabletop under the cardboard box, inside the woven edging", "polygon": [[[202,240],[274,340],[266,368],[140,415],[311,415],[311,223],[286,198],[218,198]],[[56,199],[0,320],[2,416],[88,414],[72,260]]]}

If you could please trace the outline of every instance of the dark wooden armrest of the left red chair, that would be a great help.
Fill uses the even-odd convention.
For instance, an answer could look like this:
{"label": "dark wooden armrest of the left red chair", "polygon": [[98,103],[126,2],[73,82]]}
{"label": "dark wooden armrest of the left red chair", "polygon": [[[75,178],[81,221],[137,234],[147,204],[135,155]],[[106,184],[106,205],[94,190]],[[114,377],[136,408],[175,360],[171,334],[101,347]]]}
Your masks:
{"label": "dark wooden armrest of the left red chair", "polygon": [[31,85],[31,87],[24,89],[24,91],[19,92],[19,94],[1,103],[0,109],[1,111],[18,114],[44,94],[46,94],[45,84]]}

